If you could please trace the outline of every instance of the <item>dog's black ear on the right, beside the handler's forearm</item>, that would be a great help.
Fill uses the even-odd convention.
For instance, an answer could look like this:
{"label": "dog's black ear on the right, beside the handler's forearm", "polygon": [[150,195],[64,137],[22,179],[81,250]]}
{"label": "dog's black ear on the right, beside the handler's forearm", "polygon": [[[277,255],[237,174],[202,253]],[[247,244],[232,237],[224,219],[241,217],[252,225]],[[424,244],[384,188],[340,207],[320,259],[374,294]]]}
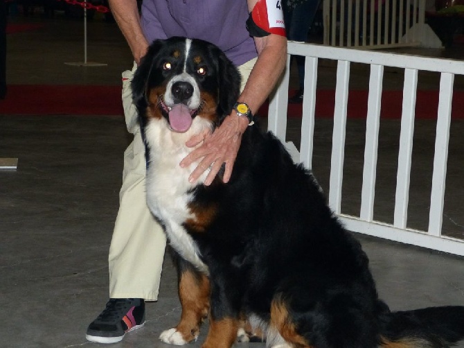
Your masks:
{"label": "dog's black ear on the right, beside the handler's forearm", "polygon": [[[237,67],[218,49],[219,60],[219,105],[217,114],[221,118],[231,113],[233,105],[240,95],[240,81],[242,80]],[[222,120],[221,120],[222,121]]]}

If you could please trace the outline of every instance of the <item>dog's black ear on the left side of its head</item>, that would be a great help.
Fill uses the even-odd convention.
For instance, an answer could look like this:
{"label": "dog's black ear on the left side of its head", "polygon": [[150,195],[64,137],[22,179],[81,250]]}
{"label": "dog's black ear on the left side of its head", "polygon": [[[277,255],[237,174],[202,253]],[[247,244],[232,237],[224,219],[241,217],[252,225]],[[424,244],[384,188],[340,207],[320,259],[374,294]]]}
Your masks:
{"label": "dog's black ear on the left side of its head", "polygon": [[157,55],[157,52],[163,46],[161,40],[155,40],[150,47],[148,48],[147,54],[141,59],[141,63],[137,68],[134,78],[132,79],[132,99],[134,104],[139,110],[139,113],[148,106],[147,100],[147,87],[148,79],[150,78],[150,71],[152,70],[154,64],[154,58]]}

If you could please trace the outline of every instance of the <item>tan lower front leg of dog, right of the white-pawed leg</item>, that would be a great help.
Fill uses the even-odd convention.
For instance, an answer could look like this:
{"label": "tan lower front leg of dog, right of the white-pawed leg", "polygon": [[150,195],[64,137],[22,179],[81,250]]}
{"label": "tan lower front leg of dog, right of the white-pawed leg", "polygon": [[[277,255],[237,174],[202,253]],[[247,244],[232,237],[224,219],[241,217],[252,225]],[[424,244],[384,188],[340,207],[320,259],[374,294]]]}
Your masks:
{"label": "tan lower front leg of dog, right of the white-pawed leg", "polygon": [[238,327],[236,319],[212,320],[210,317],[208,336],[202,348],[231,348],[237,338]]}

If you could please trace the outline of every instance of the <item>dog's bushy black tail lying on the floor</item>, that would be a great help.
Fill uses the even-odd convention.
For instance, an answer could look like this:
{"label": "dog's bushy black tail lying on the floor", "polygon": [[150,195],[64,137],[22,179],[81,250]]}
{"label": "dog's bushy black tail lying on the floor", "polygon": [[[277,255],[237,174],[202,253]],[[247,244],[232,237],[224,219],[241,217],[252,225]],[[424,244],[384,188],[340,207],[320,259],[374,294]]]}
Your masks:
{"label": "dog's bushy black tail lying on the floor", "polygon": [[464,338],[464,306],[382,314],[384,348],[446,348]]}

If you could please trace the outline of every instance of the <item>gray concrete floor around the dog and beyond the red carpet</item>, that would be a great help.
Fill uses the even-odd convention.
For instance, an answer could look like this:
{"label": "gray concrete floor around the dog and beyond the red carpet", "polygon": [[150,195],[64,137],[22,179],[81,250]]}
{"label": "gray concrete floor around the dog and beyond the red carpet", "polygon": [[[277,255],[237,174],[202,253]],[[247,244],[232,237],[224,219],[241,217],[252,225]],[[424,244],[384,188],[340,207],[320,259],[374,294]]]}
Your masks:
{"label": "gray concrete floor around the dog and beyond the red carpet", "polygon": [[[27,20],[44,27],[8,35],[9,84],[118,85],[121,71],[132,66],[116,25],[101,17],[89,23],[89,61],[105,62],[105,67],[64,64],[83,59],[82,21],[66,20],[60,13],[55,19],[36,14]],[[321,80],[331,83],[330,65],[323,69]],[[363,71],[359,69],[355,82],[359,85],[364,83]],[[426,79],[425,87],[432,86],[432,80]],[[395,78],[386,83],[398,85]],[[0,157],[19,157],[17,171],[0,171],[0,347],[100,347],[84,335],[108,297],[107,254],[118,209],[123,151],[130,136],[121,115],[37,114],[2,114],[0,101]],[[288,139],[297,145],[299,127],[298,120],[289,120]],[[331,129],[330,120],[316,121],[314,173],[325,190]],[[398,130],[398,121],[382,121],[375,204],[379,218],[386,221],[393,211]],[[418,121],[415,130],[410,224],[419,228],[428,219],[429,190],[424,185],[431,163],[425,153],[433,148],[434,121]],[[350,120],[342,210],[353,214],[359,211],[363,132],[362,120]],[[464,123],[453,121],[447,183],[452,189],[445,197],[444,218],[444,230],[453,236],[464,234],[463,132]],[[464,305],[463,258],[362,235],[357,238],[371,258],[380,296],[392,309]],[[148,304],[145,327],[112,347],[170,347],[158,336],[174,326],[179,315],[175,272],[167,259],[159,301]],[[199,342],[189,347],[200,347],[205,329]]]}

